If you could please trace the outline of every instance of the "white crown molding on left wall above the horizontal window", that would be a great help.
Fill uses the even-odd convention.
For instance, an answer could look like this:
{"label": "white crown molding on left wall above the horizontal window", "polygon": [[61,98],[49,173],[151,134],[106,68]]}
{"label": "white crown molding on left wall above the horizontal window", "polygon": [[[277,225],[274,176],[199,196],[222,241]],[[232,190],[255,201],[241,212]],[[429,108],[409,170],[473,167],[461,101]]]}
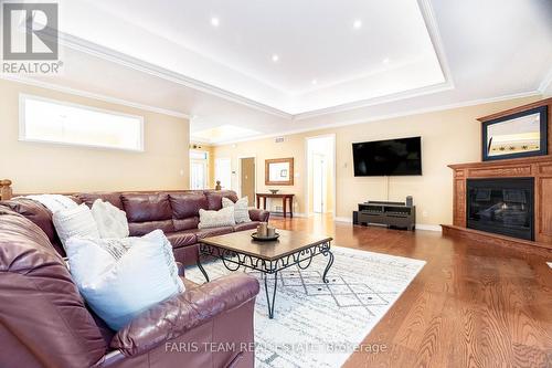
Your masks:
{"label": "white crown molding on left wall above the horizontal window", "polygon": [[41,87],[41,88],[45,88],[45,90],[50,90],[50,91],[62,92],[62,93],[66,93],[66,94],[74,95],[74,96],[93,98],[93,99],[106,102],[109,104],[116,104],[116,105],[138,108],[138,109],[142,109],[142,111],[151,112],[151,113],[190,119],[190,116],[188,114],[183,114],[180,112],[174,112],[174,111],[170,111],[170,109],[166,109],[166,108],[161,108],[161,107],[156,107],[156,106],[144,105],[140,103],[136,103],[136,102],[131,102],[131,101],[127,101],[127,99],[120,99],[120,98],[116,98],[116,97],[112,97],[112,96],[107,96],[107,95],[103,95],[103,94],[86,92],[86,91],[82,91],[82,90],[64,87],[64,86],[60,86],[57,84],[31,80],[31,78],[19,76],[19,75],[0,73],[0,80],[6,80],[6,81],[10,81],[10,82],[15,82],[15,83],[22,83],[22,84],[32,85],[35,87]]}

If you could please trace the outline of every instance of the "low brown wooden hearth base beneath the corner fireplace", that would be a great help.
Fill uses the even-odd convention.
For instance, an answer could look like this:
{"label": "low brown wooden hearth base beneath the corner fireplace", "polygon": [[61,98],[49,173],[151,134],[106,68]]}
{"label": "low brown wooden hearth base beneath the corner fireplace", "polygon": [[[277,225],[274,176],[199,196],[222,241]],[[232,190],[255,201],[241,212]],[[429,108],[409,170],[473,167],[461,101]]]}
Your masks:
{"label": "low brown wooden hearth base beneath the corner fireplace", "polygon": [[516,246],[520,251],[531,253],[539,252],[540,254],[552,256],[552,244],[532,242],[529,240],[510,238],[501,234],[495,234],[490,232],[468,229],[464,227],[456,227],[449,224],[442,224],[444,236],[458,236],[463,239],[473,240],[475,242],[486,244],[499,245],[499,246]]}

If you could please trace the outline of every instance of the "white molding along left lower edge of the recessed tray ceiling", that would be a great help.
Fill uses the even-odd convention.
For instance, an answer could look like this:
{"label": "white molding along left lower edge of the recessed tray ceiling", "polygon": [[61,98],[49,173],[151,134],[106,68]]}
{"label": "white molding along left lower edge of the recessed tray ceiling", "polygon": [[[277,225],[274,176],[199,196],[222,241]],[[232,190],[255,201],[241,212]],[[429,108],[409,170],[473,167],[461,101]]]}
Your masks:
{"label": "white molding along left lower edge of the recessed tray ceiling", "polygon": [[68,33],[63,33],[60,32],[60,43],[63,44],[64,46],[67,46],[70,49],[81,51],[84,53],[87,53],[89,55],[117,63],[119,65],[132,69],[138,72],[142,72],[169,82],[173,82],[197,91],[201,91],[257,111],[261,111],[263,113],[267,113],[274,116],[283,117],[283,118],[293,118],[291,114],[288,114],[286,112],[279,111],[277,108],[274,108],[272,106],[255,102],[253,99],[243,97],[241,95],[237,95],[235,93],[215,87],[211,84],[203,83],[201,81],[188,77],[185,75],[182,75],[180,73],[170,71],[166,67],[155,65],[152,63],[146,62],[144,60],[140,60],[138,57],[134,57],[130,55],[127,55],[125,53],[112,50],[109,48],[102,46],[97,43],[86,41],[84,39],[74,36]]}

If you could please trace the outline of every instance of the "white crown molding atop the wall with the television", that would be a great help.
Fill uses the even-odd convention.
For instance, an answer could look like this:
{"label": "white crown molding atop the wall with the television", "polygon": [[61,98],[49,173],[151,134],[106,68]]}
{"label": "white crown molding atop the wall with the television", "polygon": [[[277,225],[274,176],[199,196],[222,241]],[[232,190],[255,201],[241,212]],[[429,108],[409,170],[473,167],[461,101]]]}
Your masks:
{"label": "white crown molding atop the wall with the television", "polygon": [[[224,140],[224,141],[217,141],[217,143],[213,141],[213,143],[211,143],[211,146],[213,146],[213,147],[226,146],[226,145],[244,143],[244,141],[267,139],[267,138],[274,138],[274,137],[279,137],[279,136],[289,136],[289,135],[294,135],[294,134],[301,134],[301,133],[308,133],[308,132],[318,132],[318,130],[338,128],[338,127],[357,125],[357,124],[388,120],[388,119],[404,117],[404,116],[435,113],[435,112],[440,112],[440,111],[468,107],[468,106],[476,106],[476,105],[482,105],[482,104],[490,104],[490,103],[508,101],[508,99],[541,96],[541,95],[542,94],[539,91],[529,91],[529,92],[516,93],[516,94],[510,94],[510,95],[503,95],[503,96],[499,96],[499,97],[470,99],[470,101],[465,101],[465,102],[460,102],[460,103],[438,105],[438,106],[432,106],[432,107],[426,107],[426,108],[414,108],[414,109],[410,109],[410,111],[396,113],[396,114],[376,115],[376,116],[372,116],[372,117],[363,117],[363,118],[351,119],[351,120],[322,124],[322,125],[317,125],[316,127],[312,127],[312,128],[280,130],[277,133],[258,135],[258,136],[253,136],[253,137],[247,137],[247,138],[229,139],[229,140]],[[193,134],[191,136],[192,136],[191,139],[193,139]]]}

